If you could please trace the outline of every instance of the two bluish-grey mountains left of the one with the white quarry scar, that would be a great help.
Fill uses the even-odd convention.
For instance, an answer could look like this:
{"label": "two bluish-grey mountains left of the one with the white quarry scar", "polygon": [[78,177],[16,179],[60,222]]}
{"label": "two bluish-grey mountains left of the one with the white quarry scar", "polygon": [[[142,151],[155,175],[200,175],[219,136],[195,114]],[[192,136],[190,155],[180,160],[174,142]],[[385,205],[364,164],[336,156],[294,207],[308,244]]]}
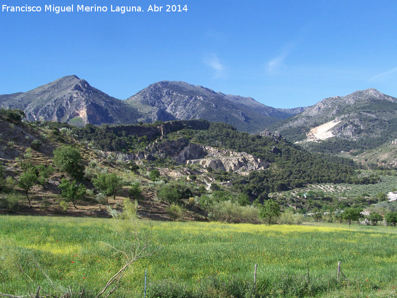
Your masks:
{"label": "two bluish-grey mountains left of the one with the white quarry scar", "polygon": [[4,108],[21,109],[29,121],[134,124],[139,121],[205,119],[226,122],[240,131],[258,132],[307,107],[275,109],[251,97],[226,95],[181,81],[160,81],[121,100],[76,75],[59,78],[27,92],[0,95]]}

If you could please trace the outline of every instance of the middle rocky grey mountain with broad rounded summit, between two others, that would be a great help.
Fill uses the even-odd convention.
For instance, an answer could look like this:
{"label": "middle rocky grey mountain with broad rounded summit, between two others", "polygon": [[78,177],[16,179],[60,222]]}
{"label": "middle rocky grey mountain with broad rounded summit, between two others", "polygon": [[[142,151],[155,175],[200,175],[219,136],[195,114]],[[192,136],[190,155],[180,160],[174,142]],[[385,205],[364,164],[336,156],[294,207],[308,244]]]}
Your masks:
{"label": "middle rocky grey mountain with broad rounded summit, between two others", "polygon": [[[227,95],[183,81],[159,81],[126,100],[146,114],[146,122],[206,119],[226,122],[240,131],[257,132],[291,116],[252,97]],[[295,114],[295,113],[294,113]]]}

